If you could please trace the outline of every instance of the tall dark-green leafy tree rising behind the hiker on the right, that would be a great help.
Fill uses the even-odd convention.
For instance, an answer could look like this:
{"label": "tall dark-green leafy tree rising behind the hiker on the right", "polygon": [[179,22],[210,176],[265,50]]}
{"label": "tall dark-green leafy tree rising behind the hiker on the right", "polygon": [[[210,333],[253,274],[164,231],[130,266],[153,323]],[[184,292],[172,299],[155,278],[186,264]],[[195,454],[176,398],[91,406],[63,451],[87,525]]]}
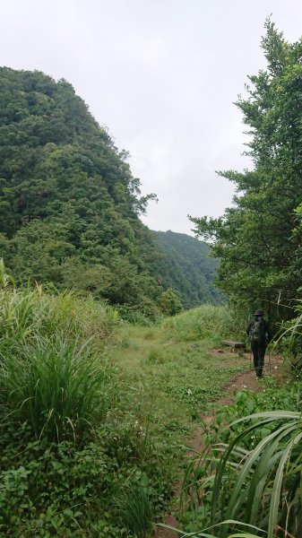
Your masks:
{"label": "tall dark-green leafy tree rising behind the hiker on the right", "polygon": [[192,221],[220,257],[220,288],[231,299],[290,317],[280,305],[301,290],[302,41],[289,44],[269,20],[265,28],[267,68],[249,77],[246,99],[237,100],[254,169],[220,172],[237,187],[234,206]]}

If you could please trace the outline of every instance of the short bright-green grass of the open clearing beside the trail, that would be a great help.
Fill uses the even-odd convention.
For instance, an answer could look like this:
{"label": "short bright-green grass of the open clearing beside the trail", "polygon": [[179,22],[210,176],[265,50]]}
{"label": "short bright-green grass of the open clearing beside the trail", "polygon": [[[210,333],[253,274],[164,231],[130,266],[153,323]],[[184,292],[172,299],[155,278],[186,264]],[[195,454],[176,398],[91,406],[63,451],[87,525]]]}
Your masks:
{"label": "short bright-green grass of the open clearing beside the trail", "polygon": [[[194,420],[199,420],[209,404],[222,395],[229,379],[248,364],[236,354],[227,359],[211,354],[217,340],[179,343],[169,336],[160,325],[152,332],[129,325],[127,347],[118,345],[116,335],[116,345],[108,349],[108,356],[124,372],[123,392],[132,394],[133,401],[140,401],[145,408],[151,406],[151,430],[161,429],[160,435],[171,431],[171,443],[184,446]],[[148,414],[146,409],[142,414]]]}

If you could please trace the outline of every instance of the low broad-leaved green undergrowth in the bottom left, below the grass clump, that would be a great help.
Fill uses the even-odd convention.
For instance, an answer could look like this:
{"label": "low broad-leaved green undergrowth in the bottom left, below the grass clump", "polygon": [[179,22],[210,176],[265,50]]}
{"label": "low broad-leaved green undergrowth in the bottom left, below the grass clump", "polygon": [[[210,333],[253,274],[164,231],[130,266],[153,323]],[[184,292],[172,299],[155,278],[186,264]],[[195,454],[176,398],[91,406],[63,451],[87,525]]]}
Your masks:
{"label": "low broad-leaved green undergrowth in the bottom left, below the grass clump", "polygon": [[[134,538],[115,501],[121,484],[139,489],[146,476],[143,458],[133,453],[132,433],[117,460],[111,450],[116,443],[106,428],[78,447],[70,441],[31,441],[24,427],[1,430],[1,534]],[[156,499],[156,490],[151,496]]]}

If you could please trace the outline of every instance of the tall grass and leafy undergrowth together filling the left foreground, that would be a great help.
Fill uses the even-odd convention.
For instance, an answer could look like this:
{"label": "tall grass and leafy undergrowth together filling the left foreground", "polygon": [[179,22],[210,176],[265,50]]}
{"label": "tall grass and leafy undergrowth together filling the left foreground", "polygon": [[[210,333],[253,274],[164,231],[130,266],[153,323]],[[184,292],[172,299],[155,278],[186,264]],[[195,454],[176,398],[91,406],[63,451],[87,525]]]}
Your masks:
{"label": "tall grass and leafy undergrowth together filling the left foreground", "polygon": [[40,287],[0,294],[0,534],[134,538],[121,485],[141,491],[151,528],[171,494],[171,450],[105,357],[124,326],[116,311]]}

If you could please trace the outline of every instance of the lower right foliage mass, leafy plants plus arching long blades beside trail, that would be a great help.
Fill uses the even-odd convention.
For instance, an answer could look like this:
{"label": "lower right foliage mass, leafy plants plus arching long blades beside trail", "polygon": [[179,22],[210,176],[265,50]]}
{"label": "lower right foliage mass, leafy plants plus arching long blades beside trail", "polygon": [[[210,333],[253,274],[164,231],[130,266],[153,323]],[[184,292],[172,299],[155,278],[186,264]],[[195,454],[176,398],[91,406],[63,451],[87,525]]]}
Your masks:
{"label": "lower right foliage mass, leafy plants plus arching long blades beside trail", "polygon": [[[203,454],[187,469],[188,531],[237,520],[271,537],[299,535],[300,404],[298,380],[266,385],[260,394],[237,393],[234,405],[218,411]],[[234,521],[221,525],[214,535],[227,537],[236,527]]]}

